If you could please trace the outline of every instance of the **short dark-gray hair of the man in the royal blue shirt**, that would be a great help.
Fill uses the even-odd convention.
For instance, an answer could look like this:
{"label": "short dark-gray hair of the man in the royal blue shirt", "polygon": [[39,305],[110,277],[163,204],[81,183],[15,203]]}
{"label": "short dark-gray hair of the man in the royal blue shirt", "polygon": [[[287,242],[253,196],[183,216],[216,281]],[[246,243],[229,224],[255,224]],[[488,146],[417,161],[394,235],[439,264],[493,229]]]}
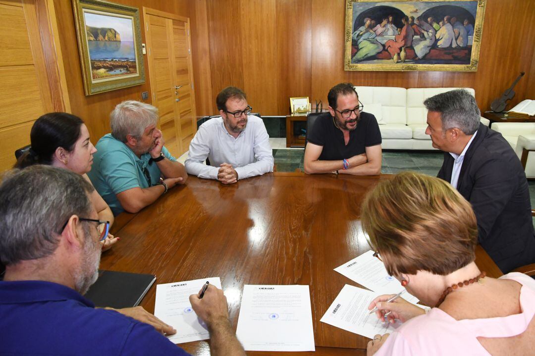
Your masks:
{"label": "short dark-gray hair of the man in the royal blue shirt", "polygon": [[13,169],[0,185],[0,260],[4,265],[50,256],[72,215],[88,218],[95,188],[67,169]]}

